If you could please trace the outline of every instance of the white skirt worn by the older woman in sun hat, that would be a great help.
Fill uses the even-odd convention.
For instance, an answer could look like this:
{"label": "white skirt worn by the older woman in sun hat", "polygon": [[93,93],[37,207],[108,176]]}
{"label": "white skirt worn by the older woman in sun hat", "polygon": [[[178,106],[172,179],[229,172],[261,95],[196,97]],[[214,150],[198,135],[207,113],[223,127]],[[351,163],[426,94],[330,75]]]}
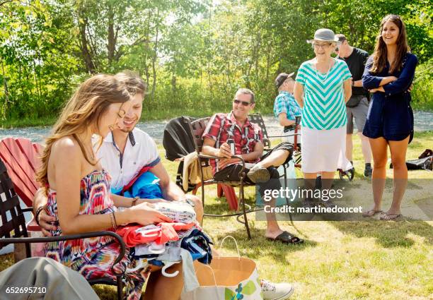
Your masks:
{"label": "white skirt worn by the older woman in sun hat", "polygon": [[346,158],[346,126],[330,130],[302,128],[302,162],[304,173],[335,172],[352,168]]}

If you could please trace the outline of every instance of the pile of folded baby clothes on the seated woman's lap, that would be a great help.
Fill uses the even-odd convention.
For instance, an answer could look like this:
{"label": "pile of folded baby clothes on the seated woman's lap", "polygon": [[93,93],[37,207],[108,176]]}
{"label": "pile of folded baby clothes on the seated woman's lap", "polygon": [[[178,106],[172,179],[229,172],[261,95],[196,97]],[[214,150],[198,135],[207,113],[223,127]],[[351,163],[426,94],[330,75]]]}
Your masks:
{"label": "pile of folded baby clothes on the seated woman's lap", "polygon": [[178,273],[169,274],[166,269],[174,263],[183,262],[184,289],[191,291],[198,287],[192,261],[211,263],[212,240],[202,232],[194,208],[186,201],[155,203],[154,208],[173,222],[146,226],[128,224],[118,227],[116,233],[131,248],[130,255],[139,261],[139,267],[144,263],[161,266],[163,275],[173,277]]}

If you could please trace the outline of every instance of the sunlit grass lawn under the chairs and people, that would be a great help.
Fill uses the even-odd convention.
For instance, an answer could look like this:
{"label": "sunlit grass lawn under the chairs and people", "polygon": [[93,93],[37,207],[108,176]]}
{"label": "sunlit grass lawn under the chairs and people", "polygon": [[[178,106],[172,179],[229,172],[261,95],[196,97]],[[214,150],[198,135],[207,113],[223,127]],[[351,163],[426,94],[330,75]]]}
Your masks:
{"label": "sunlit grass lawn under the chairs and people", "polygon": [[[425,148],[433,148],[433,132],[416,133],[408,149],[408,159],[416,158]],[[164,157],[162,145],[158,145]],[[354,137],[356,177],[362,179],[360,141]],[[177,163],[163,158],[163,164],[174,179]],[[388,170],[392,176],[392,170]],[[433,179],[432,172],[411,171],[410,179]],[[362,179],[365,180],[365,179]],[[433,184],[433,180],[429,181]],[[209,212],[228,211],[224,198],[207,186],[206,207]],[[365,191],[372,198],[371,191]],[[246,197],[254,203],[254,189]],[[386,207],[384,208],[386,209]],[[205,218],[204,230],[219,244],[226,235],[238,241],[241,255],[253,258],[260,277],[275,282],[292,282],[296,287],[290,299],[433,299],[433,222],[403,220],[400,222],[289,222],[280,225],[301,236],[300,246],[266,241],[265,222],[250,215],[253,239],[248,241],[242,224],[231,218]],[[222,253],[235,256],[230,241]],[[0,256],[0,270],[13,262],[11,255]],[[24,275],[25,276],[25,275]],[[114,287],[97,286],[101,299],[115,299]]]}

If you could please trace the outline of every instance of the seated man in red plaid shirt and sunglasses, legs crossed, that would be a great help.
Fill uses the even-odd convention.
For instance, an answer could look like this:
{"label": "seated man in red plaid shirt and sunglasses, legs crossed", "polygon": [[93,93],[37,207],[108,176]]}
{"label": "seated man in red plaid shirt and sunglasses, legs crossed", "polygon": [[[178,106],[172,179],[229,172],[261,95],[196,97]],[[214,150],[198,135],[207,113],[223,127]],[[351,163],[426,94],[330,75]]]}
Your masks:
{"label": "seated man in red plaid shirt and sunglasses, legs crossed", "polygon": [[[214,114],[210,119],[203,133],[202,152],[205,155],[221,157],[219,160],[210,160],[215,180],[239,181],[242,165],[239,160],[231,158],[230,145],[227,143],[227,140],[234,140],[235,154],[241,155],[246,162],[254,163],[253,167],[246,169],[248,174],[245,182],[259,184],[263,197],[265,190],[281,188],[276,167],[290,160],[293,146],[290,143],[281,143],[262,155],[262,131],[248,120],[248,113],[254,106],[253,92],[246,88],[239,89],[233,99],[233,110],[229,114]],[[275,206],[275,199],[270,200],[269,204]],[[279,228],[275,213],[267,213],[266,218],[267,239],[293,244],[302,241]]]}

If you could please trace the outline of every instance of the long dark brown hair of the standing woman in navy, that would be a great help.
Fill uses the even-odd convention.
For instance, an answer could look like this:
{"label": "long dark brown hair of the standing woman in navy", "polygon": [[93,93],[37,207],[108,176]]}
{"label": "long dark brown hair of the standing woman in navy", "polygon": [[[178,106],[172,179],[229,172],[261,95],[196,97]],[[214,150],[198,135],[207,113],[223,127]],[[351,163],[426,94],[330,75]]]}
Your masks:
{"label": "long dark brown hair of the standing woman in navy", "polygon": [[385,42],[383,42],[382,30],[383,30],[383,25],[388,21],[391,21],[392,23],[396,24],[398,30],[400,31],[398,33],[397,42],[396,42],[397,43],[396,57],[393,61],[393,64],[391,64],[389,68],[389,73],[393,73],[394,71],[399,71],[401,68],[403,68],[403,59],[405,55],[408,52],[410,52],[410,48],[408,45],[408,38],[406,35],[405,23],[403,23],[403,20],[400,18],[400,16],[397,15],[386,16],[385,18],[382,19],[379,35],[377,35],[376,37],[376,46],[374,47],[373,65],[371,66],[371,73],[380,73],[383,70],[383,68],[385,68],[386,65],[388,49],[386,49],[386,44]]}

